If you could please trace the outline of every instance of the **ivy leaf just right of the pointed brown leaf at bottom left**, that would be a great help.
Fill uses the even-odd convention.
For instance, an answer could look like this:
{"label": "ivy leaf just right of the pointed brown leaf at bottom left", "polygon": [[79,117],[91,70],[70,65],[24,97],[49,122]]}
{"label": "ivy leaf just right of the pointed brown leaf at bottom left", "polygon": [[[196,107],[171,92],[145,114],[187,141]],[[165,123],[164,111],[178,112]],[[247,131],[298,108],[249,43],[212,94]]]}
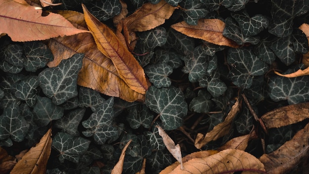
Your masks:
{"label": "ivy leaf just right of the pointed brown leaf at bottom left", "polygon": [[59,154],[59,161],[69,160],[78,163],[79,156],[86,152],[90,144],[90,140],[82,137],[72,136],[68,133],[58,132],[52,141],[52,147]]}

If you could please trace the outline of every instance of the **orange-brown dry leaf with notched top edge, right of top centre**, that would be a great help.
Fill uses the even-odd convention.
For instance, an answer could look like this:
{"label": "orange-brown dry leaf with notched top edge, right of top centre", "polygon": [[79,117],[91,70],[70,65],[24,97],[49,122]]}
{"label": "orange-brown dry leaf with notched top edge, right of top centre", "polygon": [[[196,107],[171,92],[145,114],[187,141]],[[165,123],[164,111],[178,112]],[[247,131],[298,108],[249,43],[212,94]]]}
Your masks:
{"label": "orange-brown dry leaf with notched top edge, right of top centre", "polygon": [[171,25],[176,31],[189,37],[201,39],[212,44],[239,47],[234,41],[222,35],[225,23],[220,19],[199,19],[197,25],[185,21]]}

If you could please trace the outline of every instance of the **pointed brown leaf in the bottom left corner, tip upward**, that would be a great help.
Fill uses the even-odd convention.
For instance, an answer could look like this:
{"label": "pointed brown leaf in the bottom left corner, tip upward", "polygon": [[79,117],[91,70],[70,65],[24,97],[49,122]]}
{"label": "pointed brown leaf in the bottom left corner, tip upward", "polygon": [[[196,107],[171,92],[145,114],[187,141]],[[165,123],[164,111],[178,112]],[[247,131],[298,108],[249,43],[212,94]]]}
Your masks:
{"label": "pointed brown leaf in the bottom left corner, tip upward", "polygon": [[39,143],[17,162],[10,174],[45,174],[51,141],[51,129],[49,129]]}

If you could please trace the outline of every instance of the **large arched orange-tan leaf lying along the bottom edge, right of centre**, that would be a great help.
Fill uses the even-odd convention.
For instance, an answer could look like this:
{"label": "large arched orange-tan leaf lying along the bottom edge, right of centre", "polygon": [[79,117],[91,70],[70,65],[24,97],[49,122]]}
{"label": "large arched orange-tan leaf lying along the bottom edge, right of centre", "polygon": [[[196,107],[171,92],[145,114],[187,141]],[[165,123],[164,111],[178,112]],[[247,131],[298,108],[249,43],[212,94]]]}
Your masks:
{"label": "large arched orange-tan leaf lying along the bottom edge, right of centre", "polygon": [[178,166],[169,174],[232,174],[235,171],[244,171],[242,174],[266,174],[263,163],[253,155],[237,149],[194,158],[184,163],[184,167],[182,171]]}

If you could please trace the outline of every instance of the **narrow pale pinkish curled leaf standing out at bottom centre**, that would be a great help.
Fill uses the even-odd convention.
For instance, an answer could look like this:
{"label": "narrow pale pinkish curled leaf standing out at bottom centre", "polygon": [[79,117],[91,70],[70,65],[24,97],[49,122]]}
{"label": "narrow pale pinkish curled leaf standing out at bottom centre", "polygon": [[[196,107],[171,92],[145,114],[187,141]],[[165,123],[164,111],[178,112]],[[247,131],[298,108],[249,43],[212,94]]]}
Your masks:
{"label": "narrow pale pinkish curled leaf standing out at bottom centre", "polygon": [[180,169],[184,170],[182,156],[181,156],[181,148],[180,148],[179,144],[175,145],[172,138],[169,137],[168,134],[160,126],[157,125],[155,127],[158,129],[159,135],[162,137],[163,143],[165,144],[167,150],[180,163]]}

